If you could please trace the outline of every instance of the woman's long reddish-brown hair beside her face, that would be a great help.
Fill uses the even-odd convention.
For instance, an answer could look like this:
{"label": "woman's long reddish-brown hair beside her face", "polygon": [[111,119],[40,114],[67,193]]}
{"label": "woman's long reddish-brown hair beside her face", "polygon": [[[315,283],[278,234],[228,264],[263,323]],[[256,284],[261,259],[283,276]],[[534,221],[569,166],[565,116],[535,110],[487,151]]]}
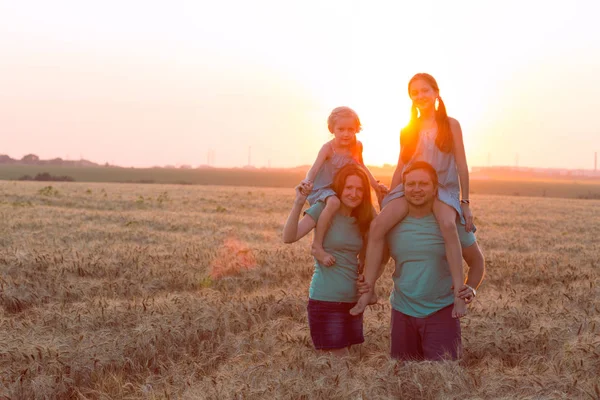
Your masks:
{"label": "woman's long reddish-brown hair beside her face", "polygon": [[340,201],[342,200],[342,192],[346,186],[346,179],[349,176],[356,175],[360,178],[363,185],[363,199],[356,207],[352,210],[351,215],[356,218],[358,223],[358,229],[362,235],[365,235],[369,231],[369,226],[373,220],[373,204],[371,203],[371,185],[369,184],[369,178],[365,170],[356,164],[348,164],[338,171],[333,178],[333,190],[337,194]]}

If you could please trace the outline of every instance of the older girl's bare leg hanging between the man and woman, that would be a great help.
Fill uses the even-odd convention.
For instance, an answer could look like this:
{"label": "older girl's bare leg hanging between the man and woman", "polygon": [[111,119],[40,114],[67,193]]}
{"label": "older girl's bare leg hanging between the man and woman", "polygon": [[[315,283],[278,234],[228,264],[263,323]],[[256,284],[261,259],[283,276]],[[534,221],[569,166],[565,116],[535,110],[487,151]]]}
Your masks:
{"label": "older girl's bare leg hanging between the man and woman", "polygon": [[[369,228],[369,243],[367,244],[367,255],[365,257],[365,279],[375,282],[385,248],[385,235],[408,214],[408,203],[406,198],[400,197],[390,201],[377,217],[371,222]],[[375,285],[371,291],[361,295],[356,305],[350,310],[350,314],[359,315],[365,311],[369,304],[377,302]]]}

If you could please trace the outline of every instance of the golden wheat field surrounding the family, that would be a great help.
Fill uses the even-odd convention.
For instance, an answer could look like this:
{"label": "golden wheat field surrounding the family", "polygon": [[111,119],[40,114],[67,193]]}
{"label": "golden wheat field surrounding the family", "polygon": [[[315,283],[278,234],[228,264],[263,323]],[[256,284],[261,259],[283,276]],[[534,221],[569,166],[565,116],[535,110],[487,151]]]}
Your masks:
{"label": "golden wheat field surrounding the family", "polygon": [[598,399],[600,201],[475,195],[487,275],[459,362],[312,348],[292,189],[0,182],[0,398]]}

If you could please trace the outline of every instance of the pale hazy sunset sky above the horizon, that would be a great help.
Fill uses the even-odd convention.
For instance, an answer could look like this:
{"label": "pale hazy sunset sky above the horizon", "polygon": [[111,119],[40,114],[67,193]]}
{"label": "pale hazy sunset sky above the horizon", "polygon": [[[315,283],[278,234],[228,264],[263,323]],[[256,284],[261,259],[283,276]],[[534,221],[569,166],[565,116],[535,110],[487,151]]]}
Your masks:
{"label": "pale hazy sunset sky above the horizon", "polygon": [[469,166],[587,168],[600,151],[597,0],[0,0],[1,154],[293,167],[355,109],[395,164],[432,74]]}

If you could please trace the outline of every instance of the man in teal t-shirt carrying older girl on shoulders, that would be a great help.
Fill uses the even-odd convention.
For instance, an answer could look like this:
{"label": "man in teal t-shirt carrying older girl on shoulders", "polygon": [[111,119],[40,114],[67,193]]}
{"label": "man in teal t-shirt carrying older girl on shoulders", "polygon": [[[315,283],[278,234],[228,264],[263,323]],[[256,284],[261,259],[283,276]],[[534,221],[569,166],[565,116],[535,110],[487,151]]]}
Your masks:
{"label": "man in teal t-shirt carrying older girl on shoulders", "polygon": [[[401,360],[457,359],[461,352],[460,321],[452,318],[454,292],[446,261],[444,238],[433,215],[437,174],[426,162],[415,162],[403,173],[408,215],[387,235],[396,261],[393,274],[391,356]],[[469,303],[485,271],[483,255],[471,232],[459,225],[463,258],[469,265],[459,296]],[[387,257],[385,257],[387,259]],[[351,314],[364,311],[374,296],[375,282],[383,273],[367,268],[363,293]]]}

